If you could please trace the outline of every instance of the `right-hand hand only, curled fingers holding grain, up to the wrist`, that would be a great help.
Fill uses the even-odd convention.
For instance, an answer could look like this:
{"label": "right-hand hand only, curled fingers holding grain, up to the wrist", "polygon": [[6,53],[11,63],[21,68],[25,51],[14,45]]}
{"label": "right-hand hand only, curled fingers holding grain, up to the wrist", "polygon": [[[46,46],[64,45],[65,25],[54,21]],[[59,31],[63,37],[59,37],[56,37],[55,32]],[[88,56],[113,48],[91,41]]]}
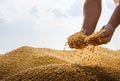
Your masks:
{"label": "right-hand hand only, curled fingers holding grain, up to the wrist", "polygon": [[115,31],[115,28],[110,24],[103,26],[100,33],[101,44],[107,44],[108,42],[110,42],[114,31]]}

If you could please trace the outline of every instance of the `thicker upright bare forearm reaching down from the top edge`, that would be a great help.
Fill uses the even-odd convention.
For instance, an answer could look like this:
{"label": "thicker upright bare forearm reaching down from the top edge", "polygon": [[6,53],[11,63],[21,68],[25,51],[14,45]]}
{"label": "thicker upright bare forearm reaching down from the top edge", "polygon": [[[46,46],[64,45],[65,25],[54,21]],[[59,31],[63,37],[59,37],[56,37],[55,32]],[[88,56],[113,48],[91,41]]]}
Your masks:
{"label": "thicker upright bare forearm reaching down from the top edge", "polygon": [[90,35],[94,32],[101,14],[101,0],[85,0],[83,12],[82,29],[87,32],[87,35]]}

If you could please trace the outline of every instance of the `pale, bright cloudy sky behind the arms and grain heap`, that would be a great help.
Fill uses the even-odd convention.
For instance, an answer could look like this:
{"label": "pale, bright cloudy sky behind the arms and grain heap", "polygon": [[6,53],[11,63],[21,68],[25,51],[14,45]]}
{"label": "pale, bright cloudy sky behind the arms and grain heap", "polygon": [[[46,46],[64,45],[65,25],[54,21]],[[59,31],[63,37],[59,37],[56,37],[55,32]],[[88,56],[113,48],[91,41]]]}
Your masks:
{"label": "pale, bright cloudy sky behind the arms and grain heap", "polygon": [[[67,37],[80,31],[84,0],[0,0],[0,54],[22,46],[63,50]],[[102,1],[102,14],[96,31],[107,24],[115,3]],[[120,28],[110,43],[120,49]]]}

